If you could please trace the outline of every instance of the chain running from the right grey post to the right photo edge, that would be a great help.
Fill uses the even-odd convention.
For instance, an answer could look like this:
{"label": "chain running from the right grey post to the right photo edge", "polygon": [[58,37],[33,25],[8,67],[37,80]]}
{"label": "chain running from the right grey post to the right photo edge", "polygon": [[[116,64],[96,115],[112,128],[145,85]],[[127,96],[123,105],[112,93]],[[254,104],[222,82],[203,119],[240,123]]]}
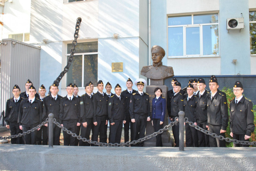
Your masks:
{"label": "chain running from the right grey post to the right photo edge", "polygon": [[208,130],[205,130],[205,129],[203,129],[203,128],[197,126],[197,125],[195,125],[193,122],[188,121],[188,118],[187,118],[187,117],[185,117],[185,123],[189,124],[189,126],[191,126],[191,127],[196,128],[197,130],[199,130],[199,131],[205,133],[206,135],[210,135],[210,136],[212,136],[212,137],[214,137],[214,138],[218,138],[218,139],[220,139],[220,140],[225,140],[225,141],[227,141],[228,143],[233,142],[233,143],[235,143],[235,144],[253,145],[253,146],[256,146],[256,141],[253,141],[253,142],[249,142],[249,141],[239,141],[239,140],[231,139],[231,138],[228,138],[228,137],[225,138],[225,137],[223,137],[223,136],[221,136],[221,135],[217,135],[216,133],[211,133],[211,132],[209,132]]}

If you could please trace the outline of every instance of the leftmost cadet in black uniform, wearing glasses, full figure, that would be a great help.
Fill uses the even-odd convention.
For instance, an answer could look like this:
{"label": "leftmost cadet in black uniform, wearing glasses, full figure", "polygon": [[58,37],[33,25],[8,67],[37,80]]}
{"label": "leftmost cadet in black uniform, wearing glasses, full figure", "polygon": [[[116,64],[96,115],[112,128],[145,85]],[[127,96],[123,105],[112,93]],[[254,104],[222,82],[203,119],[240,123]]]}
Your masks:
{"label": "leftmost cadet in black uniform, wearing glasses, full figure", "polygon": [[[19,106],[23,98],[20,96],[20,88],[18,85],[14,85],[12,88],[12,98],[9,98],[6,102],[5,116],[4,120],[6,122],[6,128],[10,129],[11,135],[18,135],[22,133],[22,130],[19,129],[18,124],[18,115],[19,115]],[[23,136],[18,138],[11,138],[12,144],[24,144]]]}

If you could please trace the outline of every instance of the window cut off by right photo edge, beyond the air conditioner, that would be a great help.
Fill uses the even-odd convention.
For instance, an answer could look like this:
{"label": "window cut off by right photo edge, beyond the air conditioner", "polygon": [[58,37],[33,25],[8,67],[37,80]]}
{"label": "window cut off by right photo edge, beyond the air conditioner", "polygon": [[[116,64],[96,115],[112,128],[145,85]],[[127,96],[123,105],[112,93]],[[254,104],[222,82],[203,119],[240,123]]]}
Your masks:
{"label": "window cut off by right photo edge, beyond the air conditioner", "polygon": [[256,54],[256,11],[249,12],[251,54]]}

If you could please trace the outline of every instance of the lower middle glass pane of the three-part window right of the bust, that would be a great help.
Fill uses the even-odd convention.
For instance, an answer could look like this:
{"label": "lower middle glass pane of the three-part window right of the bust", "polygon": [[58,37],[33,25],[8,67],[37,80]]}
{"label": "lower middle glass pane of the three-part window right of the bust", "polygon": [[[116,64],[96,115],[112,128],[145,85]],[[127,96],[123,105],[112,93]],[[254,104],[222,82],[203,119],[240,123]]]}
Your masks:
{"label": "lower middle glass pane of the three-part window right of the bust", "polygon": [[200,54],[200,30],[199,27],[186,28],[186,55]]}

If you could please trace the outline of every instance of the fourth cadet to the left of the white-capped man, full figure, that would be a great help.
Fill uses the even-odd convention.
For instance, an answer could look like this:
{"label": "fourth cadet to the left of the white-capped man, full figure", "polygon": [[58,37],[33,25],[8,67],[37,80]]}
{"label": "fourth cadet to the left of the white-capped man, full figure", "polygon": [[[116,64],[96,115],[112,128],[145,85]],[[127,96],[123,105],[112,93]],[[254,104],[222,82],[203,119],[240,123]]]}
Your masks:
{"label": "fourth cadet to the left of the white-capped man, full figure", "polygon": [[103,92],[103,82],[99,80],[97,83],[98,92],[93,95],[93,135],[92,140],[101,143],[107,143],[108,125],[108,96]]}

